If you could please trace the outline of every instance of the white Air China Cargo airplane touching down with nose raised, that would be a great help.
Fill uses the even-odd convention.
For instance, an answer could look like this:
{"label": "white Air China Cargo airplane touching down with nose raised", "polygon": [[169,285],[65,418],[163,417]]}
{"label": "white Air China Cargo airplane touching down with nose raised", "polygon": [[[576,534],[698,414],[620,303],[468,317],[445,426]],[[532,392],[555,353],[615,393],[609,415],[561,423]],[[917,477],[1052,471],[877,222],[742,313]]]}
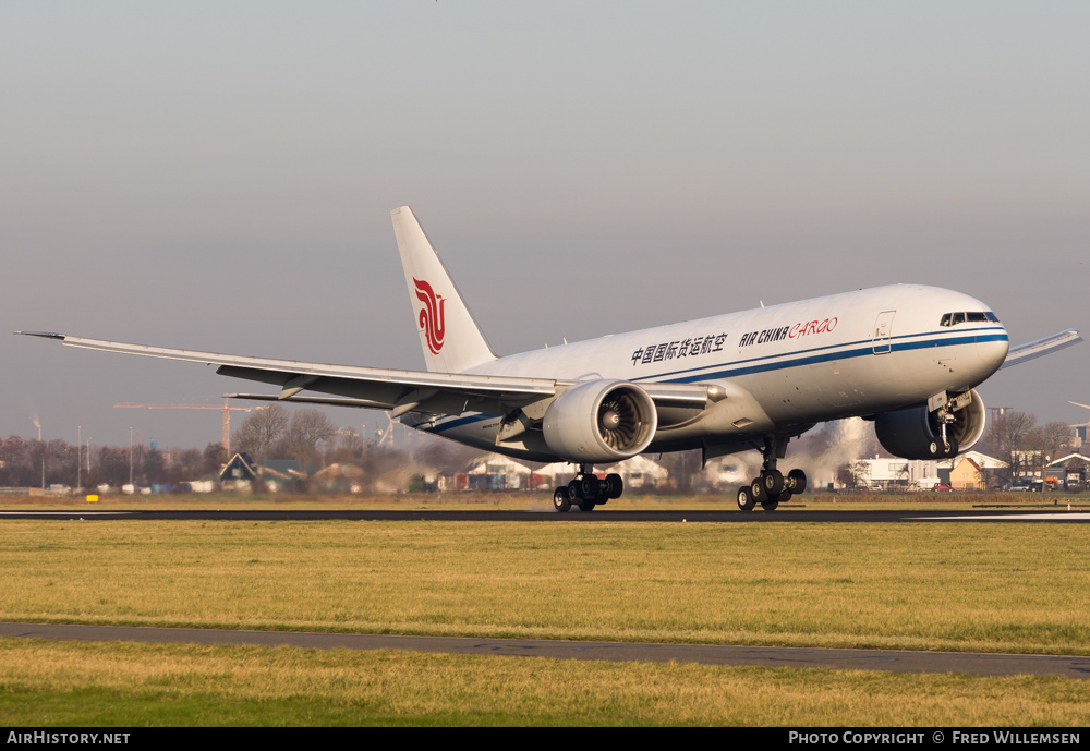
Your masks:
{"label": "white Air China Cargo airplane touching down with nose raised", "polygon": [[[497,356],[408,206],[391,213],[426,372],[269,360],[16,331],[66,347],[217,365],[278,393],[237,399],[389,410],[417,431],[532,461],[566,461],[557,511],[619,498],[594,464],[700,449],[703,461],[759,450],[738,507],[775,510],[807,488],[778,465],[818,423],[873,421],[906,459],[968,450],[984,432],[976,387],[1002,367],[1081,341],[1075,329],[1010,348],[982,302],[894,284]],[[307,395],[301,395],[307,391]],[[319,396],[313,396],[319,395]]]}

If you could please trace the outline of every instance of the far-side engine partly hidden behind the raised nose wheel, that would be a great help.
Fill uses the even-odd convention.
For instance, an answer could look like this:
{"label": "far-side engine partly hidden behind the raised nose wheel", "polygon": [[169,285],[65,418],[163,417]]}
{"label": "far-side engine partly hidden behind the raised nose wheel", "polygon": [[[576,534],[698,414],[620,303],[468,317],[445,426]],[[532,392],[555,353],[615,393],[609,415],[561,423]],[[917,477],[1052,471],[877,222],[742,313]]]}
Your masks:
{"label": "far-side engine partly hidden behind the raised nose wheel", "polygon": [[[968,392],[969,403],[954,412],[946,435],[965,451],[984,434],[984,402],[976,389]],[[905,459],[943,459],[942,427],[936,413],[927,404],[886,412],[874,420],[879,443],[889,453]]]}

